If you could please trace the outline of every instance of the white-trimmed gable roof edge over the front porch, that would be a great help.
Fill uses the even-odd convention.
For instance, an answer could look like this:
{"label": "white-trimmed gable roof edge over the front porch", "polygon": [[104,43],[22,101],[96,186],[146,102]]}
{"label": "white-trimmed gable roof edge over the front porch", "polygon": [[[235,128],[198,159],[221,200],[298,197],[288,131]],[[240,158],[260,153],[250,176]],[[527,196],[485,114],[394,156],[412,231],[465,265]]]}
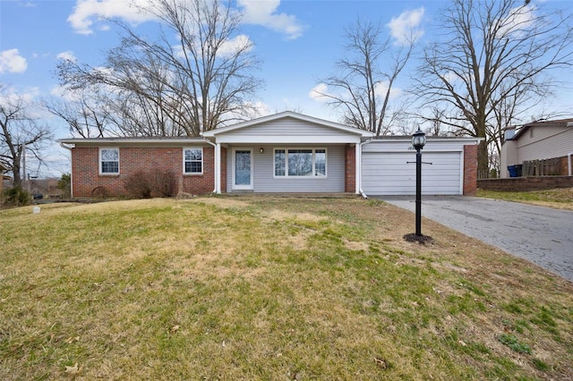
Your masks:
{"label": "white-trimmed gable roof edge over the front porch", "polygon": [[240,129],[243,129],[246,127],[252,127],[252,126],[255,126],[257,124],[275,122],[275,121],[278,121],[280,119],[286,119],[286,118],[293,118],[295,120],[298,120],[301,122],[306,122],[306,123],[319,124],[321,126],[329,127],[331,129],[334,129],[334,130],[344,131],[344,132],[348,132],[351,134],[359,135],[359,136],[364,137],[364,138],[370,138],[370,137],[374,136],[374,133],[372,133],[370,131],[359,130],[359,129],[356,129],[354,127],[347,126],[345,124],[329,122],[329,121],[324,120],[324,119],[315,118],[313,116],[304,115],[304,114],[298,114],[298,113],[294,113],[292,111],[284,111],[284,112],[278,113],[278,114],[271,114],[271,115],[267,115],[267,116],[262,116],[260,118],[255,118],[255,119],[252,119],[252,120],[247,121],[247,122],[236,123],[236,124],[233,124],[233,125],[230,125],[227,127],[220,127],[218,129],[215,129],[215,130],[205,131],[202,133],[202,136],[204,136],[206,138],[214,138],[217,135],[224,134],[224,133],[227,133],[230,131],[236,131],[236,130],[240,130]]}

